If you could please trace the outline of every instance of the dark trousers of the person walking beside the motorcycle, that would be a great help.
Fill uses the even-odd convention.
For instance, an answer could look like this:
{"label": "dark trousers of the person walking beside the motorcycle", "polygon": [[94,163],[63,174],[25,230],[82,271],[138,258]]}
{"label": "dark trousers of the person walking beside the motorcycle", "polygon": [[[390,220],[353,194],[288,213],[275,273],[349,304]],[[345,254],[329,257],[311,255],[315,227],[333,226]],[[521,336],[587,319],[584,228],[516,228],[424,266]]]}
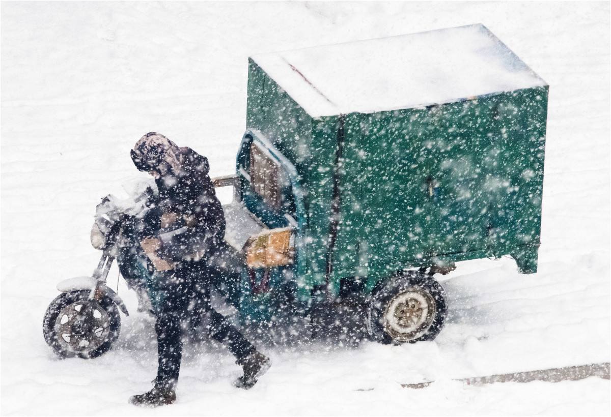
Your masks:
{"label": "dark trousers of the person walking beside the motorcycle", "polygon": [[166,272],[159,283],[164,293],[159,306],[155,332],[159,367],[156,383],[174,388],[180,372],[183,343],[181,329],[194,315],[210,313],[210,336],[224,344],[240,362],[255,347],[210,305],[211,270],[202,262],[185,262]]}

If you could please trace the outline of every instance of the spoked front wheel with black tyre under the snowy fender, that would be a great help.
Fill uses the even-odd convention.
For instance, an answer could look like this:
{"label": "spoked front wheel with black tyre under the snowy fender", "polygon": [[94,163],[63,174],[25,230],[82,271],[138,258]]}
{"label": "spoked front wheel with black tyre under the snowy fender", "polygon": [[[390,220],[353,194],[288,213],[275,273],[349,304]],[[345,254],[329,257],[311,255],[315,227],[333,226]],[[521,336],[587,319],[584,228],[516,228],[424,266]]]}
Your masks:
{"label": "spoked front wheel with black tyre under the snowy fender", "polygon": [[62,292],[45,313],[46,343],[62,358],[95,358],[119,338],[119,309],[108,297],[89,300],[89,290]]}

